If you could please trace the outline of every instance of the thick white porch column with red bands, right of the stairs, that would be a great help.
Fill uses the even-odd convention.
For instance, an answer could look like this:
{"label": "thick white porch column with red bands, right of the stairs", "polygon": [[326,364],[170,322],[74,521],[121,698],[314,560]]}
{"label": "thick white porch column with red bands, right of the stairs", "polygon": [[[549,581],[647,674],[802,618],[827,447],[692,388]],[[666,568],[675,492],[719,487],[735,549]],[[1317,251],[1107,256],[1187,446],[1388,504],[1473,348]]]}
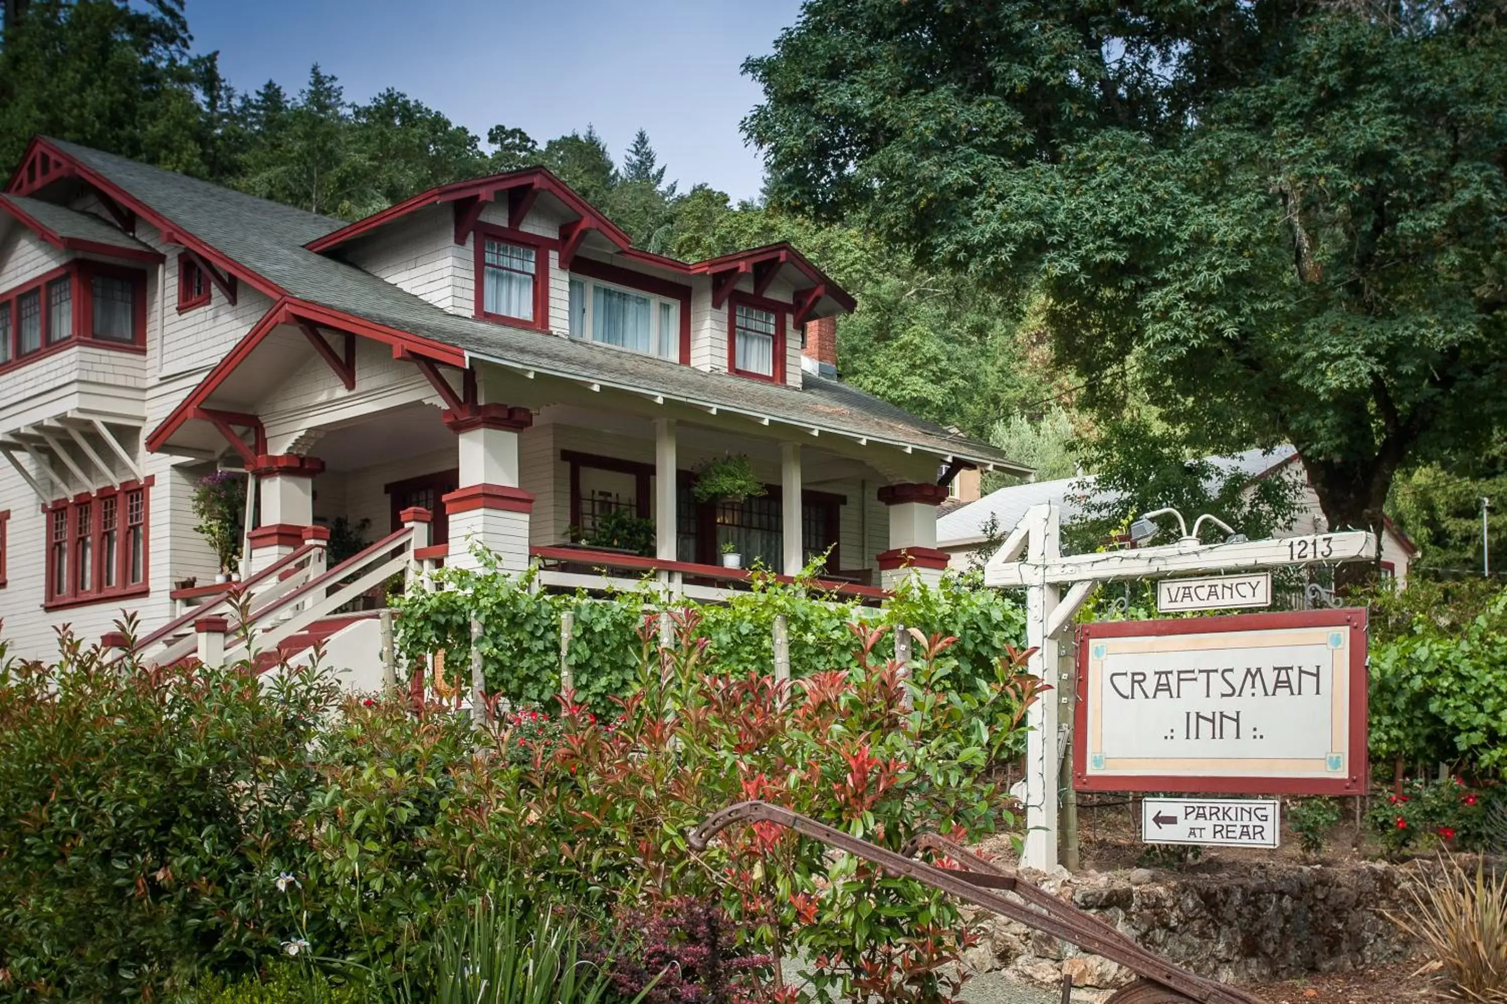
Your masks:
{"label": "thick white porch column with red bands, right of the stairs", "polygon": [[529,566],[529,513],[533,495],[518,477],[518,434],[533,424],[527,408],[472,405],[446,411],[445,424],[455,434],[460,486],[442,500],[451,524],[451,567],[479,567],[473,546],[499,558],[508,572]]}

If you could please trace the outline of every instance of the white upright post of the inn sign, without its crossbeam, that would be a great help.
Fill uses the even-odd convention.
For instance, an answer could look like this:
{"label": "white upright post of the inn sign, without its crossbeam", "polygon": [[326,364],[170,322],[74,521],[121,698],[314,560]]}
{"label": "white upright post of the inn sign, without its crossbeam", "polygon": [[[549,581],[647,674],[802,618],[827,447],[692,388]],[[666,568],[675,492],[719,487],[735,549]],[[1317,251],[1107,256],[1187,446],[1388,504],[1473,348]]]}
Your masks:
{"label": "white upright post of the inn sign, without its crossbeam", "polygon": [[1047,870],[1056,866],[1056,786],[1058,786],[1058,643],[1047,635],[1047,619],[1061,601],[1061,587],[1046,581],[1046,563],[1061,555],[1061,513],[1056,506],[1035,506],[1026,513],[1029,536],[1026,561],[1035,581],[1026,589],[1026,646],[1035,649],[1029,671],[1053,689],[1041,694],[1026,710],[1026,841],[1020,864]]}

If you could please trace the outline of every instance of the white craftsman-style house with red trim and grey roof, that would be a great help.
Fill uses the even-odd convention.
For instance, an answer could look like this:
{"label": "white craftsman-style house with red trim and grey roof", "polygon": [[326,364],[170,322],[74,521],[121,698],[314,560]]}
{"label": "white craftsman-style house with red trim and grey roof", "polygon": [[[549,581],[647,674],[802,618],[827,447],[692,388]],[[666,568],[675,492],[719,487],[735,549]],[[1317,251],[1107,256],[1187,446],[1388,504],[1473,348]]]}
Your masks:
{"label": "white craftsman-style house with red trim and grey roof", "polygon": [[[231,570],[285,652],[472,545],[543,587],[708,596],[747,577],[723,549],[787,575],[826,555],[877,599],[946,564],[951,477],[1019,468],[836,379],[853,309],[788,245],[637,250],[541,169],[347,223],[38,137],[0,194],[3,637],[41,656],[122,610],[167,656],[220,634],[232,584],[191,495],[226,470],[253,500]],[[728,453],[766,494],[698,501]],[[613,510],[653,521],[653,555],[571,543]],[[339,519],[371,545],[333,569]]]}

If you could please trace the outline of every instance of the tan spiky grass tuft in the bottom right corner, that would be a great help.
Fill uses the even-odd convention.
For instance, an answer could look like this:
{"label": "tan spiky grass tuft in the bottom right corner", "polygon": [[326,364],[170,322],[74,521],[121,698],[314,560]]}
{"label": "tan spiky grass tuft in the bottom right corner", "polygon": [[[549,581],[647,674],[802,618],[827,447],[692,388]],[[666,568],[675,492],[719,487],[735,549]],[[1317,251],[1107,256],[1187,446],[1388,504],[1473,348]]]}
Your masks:
{"label": "tan spiky grass tuft in the bottom right corner", "polygon": [[1477,859],[1472,878],[1454,858],[1423,890],[1409,887],[1414,912],[1388,912],[1394,924],[1421,941],[1444,963],[1456,996],[1507,1001],[1507,878],[1486,875]]}

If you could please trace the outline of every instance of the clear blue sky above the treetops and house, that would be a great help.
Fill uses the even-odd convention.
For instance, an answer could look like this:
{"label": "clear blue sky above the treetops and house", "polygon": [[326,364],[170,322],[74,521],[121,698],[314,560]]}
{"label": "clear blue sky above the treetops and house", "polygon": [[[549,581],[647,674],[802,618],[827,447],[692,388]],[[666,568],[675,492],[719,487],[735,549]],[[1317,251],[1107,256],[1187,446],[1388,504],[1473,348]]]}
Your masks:
{"label": "clear blue sky above the treetops and house", "polygon": [[799,0],[188,0],[197,51],[241,90],[289,92],[318,62],[345,96],[392,86],[485,138],[499,122],[540,145],[595,125],[613,158],[648,129],[666,178],[734,199],[763,170],[738,120],[741,75],[794,23]]}

